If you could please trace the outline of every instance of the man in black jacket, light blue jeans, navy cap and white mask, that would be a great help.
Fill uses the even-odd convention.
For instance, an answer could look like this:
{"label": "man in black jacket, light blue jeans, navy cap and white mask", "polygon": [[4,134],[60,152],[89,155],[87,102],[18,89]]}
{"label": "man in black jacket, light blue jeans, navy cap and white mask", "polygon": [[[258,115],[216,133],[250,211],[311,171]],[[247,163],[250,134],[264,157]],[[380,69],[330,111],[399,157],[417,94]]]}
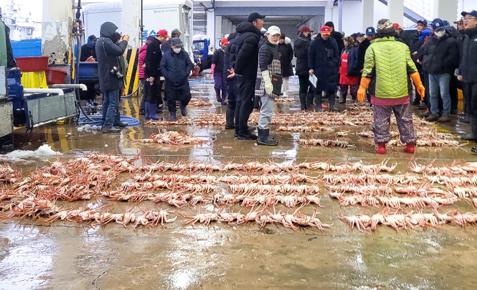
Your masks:
{"label": "man in black jacket, light blue jeans, navy cap and white mask", "polygon": [[[435,19],[431,24],[434,36],[424,48],[423,69],[429,73],[431,97],[431,115],[427,121],[449,122],[451,99],[449,83],[451,75],[459,61],[457,41],[446,34],[443,21]],[[442,98],[443,111],[439,118],[439,92]]]}

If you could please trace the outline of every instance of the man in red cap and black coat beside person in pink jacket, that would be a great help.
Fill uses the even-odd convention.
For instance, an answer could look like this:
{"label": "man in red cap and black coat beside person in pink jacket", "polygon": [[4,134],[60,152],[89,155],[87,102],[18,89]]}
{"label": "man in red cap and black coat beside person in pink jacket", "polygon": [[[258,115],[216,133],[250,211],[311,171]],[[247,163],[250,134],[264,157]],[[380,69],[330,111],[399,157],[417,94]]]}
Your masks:
{"label": "man in red cap and black coat beside person in pink jacket", "polygon": [[156,37],[151,39],[148,48],[146,49],[146,58],[144,63],[144,77],[146,83],[144,84],[144,96],[145,96],[145,116],[146,120],[160,120],[158,116],[158,104],[159,108],[162,107],[163,101],[160,96],[160,61],[162,59],[162,51],[160,46],[167,40],[167,31],[159,30]]}

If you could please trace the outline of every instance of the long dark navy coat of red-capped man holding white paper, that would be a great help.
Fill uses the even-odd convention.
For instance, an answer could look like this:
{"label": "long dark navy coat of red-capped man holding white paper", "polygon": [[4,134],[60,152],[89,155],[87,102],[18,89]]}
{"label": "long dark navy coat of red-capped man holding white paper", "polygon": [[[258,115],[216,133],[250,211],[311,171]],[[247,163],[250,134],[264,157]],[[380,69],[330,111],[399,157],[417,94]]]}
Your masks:
{"label": "long dark navy coat of red-capped man holding white paper", "polygon": [[318,78],[317,91],[334,91],[338,86],[340,51],[332,38],[320,36],[312,41],[308,50],[308,66]]}

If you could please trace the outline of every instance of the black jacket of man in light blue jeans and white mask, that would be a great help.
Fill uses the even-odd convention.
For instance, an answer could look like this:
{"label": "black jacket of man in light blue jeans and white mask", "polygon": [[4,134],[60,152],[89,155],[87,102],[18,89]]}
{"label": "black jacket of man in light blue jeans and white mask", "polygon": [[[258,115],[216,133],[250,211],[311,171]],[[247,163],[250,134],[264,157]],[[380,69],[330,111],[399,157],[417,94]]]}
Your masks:
{"label": "black jacket of man in light blue jeans and white mask", "polygon": [[453,75],[459,63],[459,45],[457,41],[444,34],[437,39],[431,37],[424,48],[423,69],[431,75]]}

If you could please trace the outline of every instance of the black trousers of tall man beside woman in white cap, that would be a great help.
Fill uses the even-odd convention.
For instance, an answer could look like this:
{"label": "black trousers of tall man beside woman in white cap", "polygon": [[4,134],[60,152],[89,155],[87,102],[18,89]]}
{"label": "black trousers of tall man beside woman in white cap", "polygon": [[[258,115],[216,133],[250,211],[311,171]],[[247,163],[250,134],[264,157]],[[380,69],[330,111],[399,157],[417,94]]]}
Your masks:
{"label": "black trousers of tall man beside woman in white cap", "polygon": [[248,132],[248,118],[253,111],[253,98],[255,96],[256,78],[238,77],[238,95],[240,104],[235,110],[236,117],[238,115],[238,132]]}

